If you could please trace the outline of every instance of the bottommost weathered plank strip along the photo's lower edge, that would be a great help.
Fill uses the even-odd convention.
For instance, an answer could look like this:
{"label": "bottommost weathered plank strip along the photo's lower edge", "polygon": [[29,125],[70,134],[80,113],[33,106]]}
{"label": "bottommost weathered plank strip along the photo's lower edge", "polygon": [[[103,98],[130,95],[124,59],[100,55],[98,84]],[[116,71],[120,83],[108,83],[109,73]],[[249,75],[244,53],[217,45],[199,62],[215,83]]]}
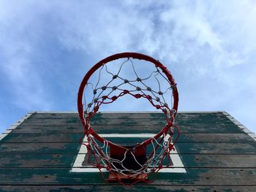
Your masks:
{"label": "bottommost weathered plank strip along the photo's lower edge", "polygon": [[146,185],[136,184],[132,188],[126,188],[122,185],[115,186],[110,185],[0,185],[1,191],[15,192],[15,191],[244,191],[244,192],[255,192],[255,185],[242,185],[242,186],[207,186],[207,185]]}

